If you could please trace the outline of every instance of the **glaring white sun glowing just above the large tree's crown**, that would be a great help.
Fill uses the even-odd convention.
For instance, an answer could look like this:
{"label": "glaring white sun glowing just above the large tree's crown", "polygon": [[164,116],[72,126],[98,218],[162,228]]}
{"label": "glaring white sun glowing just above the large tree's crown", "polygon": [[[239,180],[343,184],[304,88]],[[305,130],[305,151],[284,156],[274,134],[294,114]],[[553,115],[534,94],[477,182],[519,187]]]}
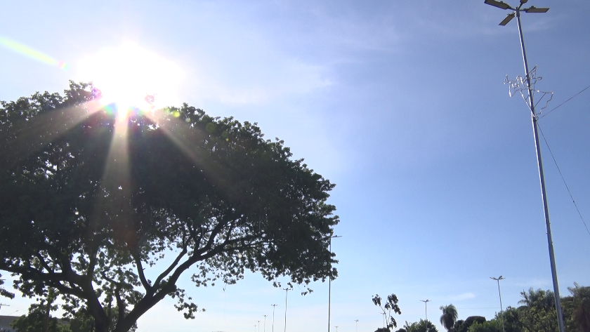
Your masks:
{"label": "glaring white sun glowing just above the large tree's crown", "polygon": [[157,106],[178,103],[176,88],[181,70],[134,44],[104,48],[81,60],[77,67],[79,79],[93,81],[103,93],[103,103],[115,103],[119,110],[143,109],[146,95],[154,95]]}

